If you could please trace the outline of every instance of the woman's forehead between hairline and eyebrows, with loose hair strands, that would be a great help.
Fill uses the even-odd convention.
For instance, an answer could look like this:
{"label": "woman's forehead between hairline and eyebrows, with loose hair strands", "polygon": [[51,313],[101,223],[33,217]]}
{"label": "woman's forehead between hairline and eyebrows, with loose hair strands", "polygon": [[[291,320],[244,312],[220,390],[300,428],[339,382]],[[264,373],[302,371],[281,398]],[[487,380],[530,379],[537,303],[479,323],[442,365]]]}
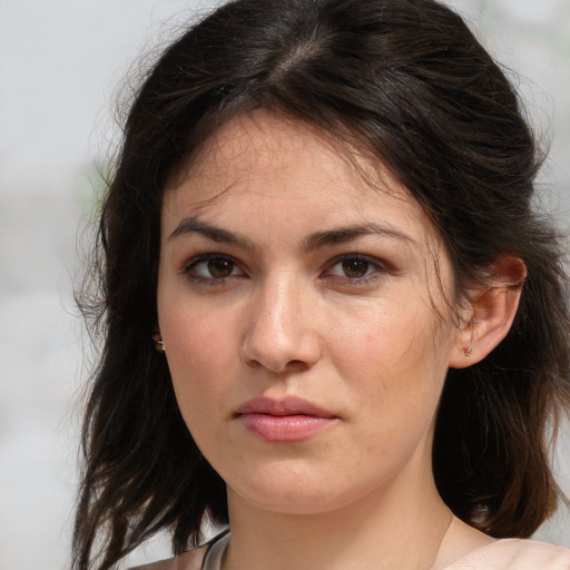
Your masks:
{"label": "woman's forehead between hairline and eyebrows, with loose hair strands", "polygon": [[262,110],[225,122],[170,178],[163,225],[168,233],[176,219],[197,213],[235,224],[258,209],[259,227],[269,214],[291,218],[292,207],[297,220],[312,225],[381,217],[435,236],[420,205],[382,164],[303,121]]}

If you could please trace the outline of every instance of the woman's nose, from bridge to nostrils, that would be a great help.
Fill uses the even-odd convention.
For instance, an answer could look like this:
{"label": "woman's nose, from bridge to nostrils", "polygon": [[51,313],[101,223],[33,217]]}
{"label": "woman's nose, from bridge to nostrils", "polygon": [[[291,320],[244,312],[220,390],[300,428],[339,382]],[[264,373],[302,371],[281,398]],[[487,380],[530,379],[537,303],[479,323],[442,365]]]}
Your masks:
{"label": "woman's nose, from bridge to nostrils", "polygon": [[307,297],[294,278],[274,278],[259,286],[243,344],[248,365],[284,373],[307,370],[318,362],[322,347]]}

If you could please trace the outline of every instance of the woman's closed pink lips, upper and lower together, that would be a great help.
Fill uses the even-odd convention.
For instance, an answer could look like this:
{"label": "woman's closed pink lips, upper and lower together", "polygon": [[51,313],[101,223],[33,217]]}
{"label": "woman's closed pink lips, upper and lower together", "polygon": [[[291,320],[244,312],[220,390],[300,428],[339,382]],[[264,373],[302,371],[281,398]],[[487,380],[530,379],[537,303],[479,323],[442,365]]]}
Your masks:
{"label": "woman's closed pink lips, upper and lower together", "polygon": [[331,412],[294,396],[255,397],[239,406],[236,417],[261,440],[284,443],[315,435],[336,420]]}

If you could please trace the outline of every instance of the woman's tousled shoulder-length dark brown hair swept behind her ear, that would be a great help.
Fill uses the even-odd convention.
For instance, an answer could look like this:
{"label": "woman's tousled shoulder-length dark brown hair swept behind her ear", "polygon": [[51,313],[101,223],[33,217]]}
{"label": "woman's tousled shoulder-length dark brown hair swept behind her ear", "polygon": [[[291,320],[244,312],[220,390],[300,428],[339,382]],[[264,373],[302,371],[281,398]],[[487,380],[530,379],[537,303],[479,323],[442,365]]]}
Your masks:
{"label": "woman's tousled shoulder-length dark brown hair swept behind her ear", "polygon": [[111,568],[165,528],[179,553],[200,541],[205,515],[227,522],[225,484],[153,347],[159,214],[167,177],[254,108],[386,165],[443,236],[460,289],[502,255],[527,265],[507,338],[449,373],[433,463],[458,517],[495,537],[529,535],[558,494],[548,451],[570,405],[569,315],[558,237],[532,208],[541,155],[515,91],[433,0],[237,0],[171,43],[124,127],[94,256],[99,298],[83,305],[105,345],[83,426],[73,568]]}

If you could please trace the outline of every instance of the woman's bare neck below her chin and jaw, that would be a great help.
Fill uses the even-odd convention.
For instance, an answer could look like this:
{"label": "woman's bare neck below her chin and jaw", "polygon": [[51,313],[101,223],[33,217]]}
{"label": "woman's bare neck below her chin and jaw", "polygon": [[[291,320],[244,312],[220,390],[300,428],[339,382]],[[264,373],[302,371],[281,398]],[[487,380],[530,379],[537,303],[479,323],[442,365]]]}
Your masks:
{"label": "woman's bare neck below her chin and jaw", "polygon": [[[424,474],[425,475],[425,474]],[[429,478],[412,475],[337,509],[264,510],[228,489],[232,542],[225,570],[429,570],[451,513]]]}

